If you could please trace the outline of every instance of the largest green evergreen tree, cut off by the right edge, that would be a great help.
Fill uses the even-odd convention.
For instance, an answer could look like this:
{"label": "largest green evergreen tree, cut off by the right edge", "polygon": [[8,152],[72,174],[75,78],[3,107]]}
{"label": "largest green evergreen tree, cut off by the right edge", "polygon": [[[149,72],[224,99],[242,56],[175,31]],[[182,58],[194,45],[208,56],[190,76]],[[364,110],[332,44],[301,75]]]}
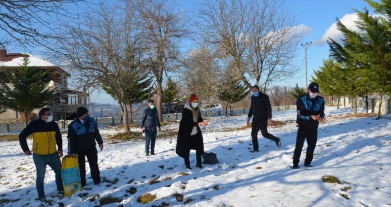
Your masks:
{"label": "largest green evergreen tree, cut off by the right edge", "polygon": [[391,92],[391,34],[390,0],[380,3],[367,2],[384,17],[370,15],[368,9],[355,10],[360,32],[354,32],[337,21],[338,30],[343,34],[342,43],[330,39],[330,53],[342,63],[345,92],[352,97],[353,111],[357,114],[356,96],[369,93]]}

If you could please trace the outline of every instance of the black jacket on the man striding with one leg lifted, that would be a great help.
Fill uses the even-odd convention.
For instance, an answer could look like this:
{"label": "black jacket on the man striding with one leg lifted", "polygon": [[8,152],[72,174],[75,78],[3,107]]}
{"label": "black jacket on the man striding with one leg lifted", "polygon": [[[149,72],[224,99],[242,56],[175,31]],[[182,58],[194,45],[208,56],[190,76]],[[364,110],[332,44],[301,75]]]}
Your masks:
{"label": "black jacket on the man striding with one leg lifted", "polygon": [[253,120],[272,118],[272,106],[270,105],[269,96],[264,93],[259,93],[257,97],[251,96],[248,118],[251,118],[251,116],[254,116]]}

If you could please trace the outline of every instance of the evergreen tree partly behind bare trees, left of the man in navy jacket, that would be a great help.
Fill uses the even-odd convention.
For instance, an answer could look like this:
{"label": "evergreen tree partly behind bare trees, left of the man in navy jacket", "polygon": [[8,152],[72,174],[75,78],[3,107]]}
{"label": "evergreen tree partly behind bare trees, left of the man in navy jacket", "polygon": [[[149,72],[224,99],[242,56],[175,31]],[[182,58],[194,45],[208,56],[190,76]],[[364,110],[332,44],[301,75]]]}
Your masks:
{"label": "evergreen tree partly behind bare trees, left of the man in navy jacket", "polygon": [[[132,78],[127,79],[123,96],[127,102],[126,104],[129,105],[131,124],[133,124],[132,104],[139,104],[147,99],[151,82],[152,79],[149,78],[147,73],[143,72],[135,72],[135,74],[132,75]],[[107,94],[113,97],[113,99],[116,99],[110,88],[107,86],[103,86],[102,88]],[[122,97],[120,97],[120,99],[122,99]]]}

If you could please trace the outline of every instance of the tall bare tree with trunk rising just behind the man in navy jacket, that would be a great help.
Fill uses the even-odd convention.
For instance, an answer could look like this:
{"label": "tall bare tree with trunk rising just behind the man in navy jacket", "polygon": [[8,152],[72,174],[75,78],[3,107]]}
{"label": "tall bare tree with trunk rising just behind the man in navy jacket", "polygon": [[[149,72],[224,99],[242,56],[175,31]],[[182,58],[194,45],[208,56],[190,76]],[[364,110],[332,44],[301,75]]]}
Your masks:
{"label": "tall bare tree with trunk rising just behind the man in navy jacket", "polygon": [[135,9],[138,25],[146,37],[145,64],[156,83],[156,106],[162,121],[163,76],[178,67],[179,43],[189,31],[184,15],[169,0],[127,0]]}

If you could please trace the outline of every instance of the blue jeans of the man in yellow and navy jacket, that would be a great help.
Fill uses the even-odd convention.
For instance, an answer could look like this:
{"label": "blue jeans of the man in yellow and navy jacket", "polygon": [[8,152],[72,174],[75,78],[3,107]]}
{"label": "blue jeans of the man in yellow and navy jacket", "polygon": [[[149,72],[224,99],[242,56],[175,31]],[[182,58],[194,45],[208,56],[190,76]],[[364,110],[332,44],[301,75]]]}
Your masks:
{"label": "blue jeans of the man in yellow and navy jacket", "polygon": [[49,155],[39,155],[37,153],[33,154],[33,160],[35,168],[37,169],[37,180],[36,187],[38,196],[45,195],[44,190],[44,179],[46,166],[49,165],[55,173],[55,184],[57,185],[57,191],[63,191],[62,178],[61,178],[61,161],[57,152]]}

